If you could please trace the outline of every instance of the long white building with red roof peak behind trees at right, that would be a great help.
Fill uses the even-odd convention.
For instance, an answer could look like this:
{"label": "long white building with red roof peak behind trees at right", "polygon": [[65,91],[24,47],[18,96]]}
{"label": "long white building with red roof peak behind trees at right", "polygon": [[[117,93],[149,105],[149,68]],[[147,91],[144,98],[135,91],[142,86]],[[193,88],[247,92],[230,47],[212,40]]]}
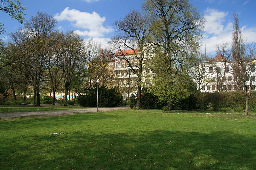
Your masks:
{"label": "long white building with red roof peak behind trees at right", "polygon": [[[234,74],[234,63],[234,61],[230,61],[221,55],[217,55],[205,63],[199,63],[202,66],[201,72],[205,74],[200,85],[201,92],[238,90],[237,77]],[[255,90],[256,84],[254,64],[255,62],[246,61],[248,71],[243,78],[248,89],[250,81],[252,82],[252,90]]]}

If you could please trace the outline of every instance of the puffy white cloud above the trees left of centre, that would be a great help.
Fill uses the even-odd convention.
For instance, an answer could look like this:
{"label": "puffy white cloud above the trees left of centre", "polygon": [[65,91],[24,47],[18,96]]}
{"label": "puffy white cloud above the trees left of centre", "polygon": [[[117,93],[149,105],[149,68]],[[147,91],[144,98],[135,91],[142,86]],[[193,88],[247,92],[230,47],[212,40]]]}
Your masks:
{"label": "puffy white cloud above the trees left of centre", "polygon": [[110,33],[113,31],[111,27],[103,26],[106,17],[100,17],[100,15],[95,11],[92,13],[81,12],[67,7],[62,12],[55,14],[54,18],[58,21],[68,20],[71,22],[72,26],[84,29],[82,31],[75,31],[82,36],[103,37],[104,33]]}

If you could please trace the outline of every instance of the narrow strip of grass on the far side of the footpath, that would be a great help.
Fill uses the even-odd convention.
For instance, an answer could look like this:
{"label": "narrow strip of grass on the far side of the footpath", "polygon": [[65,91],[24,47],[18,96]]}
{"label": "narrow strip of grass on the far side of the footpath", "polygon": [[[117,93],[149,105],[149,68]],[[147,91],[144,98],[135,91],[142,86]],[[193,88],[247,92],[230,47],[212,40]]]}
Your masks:
{"label": "narrow strip of grass on the far side of the footpath", "polygon": [[34,105],[26,106],[12,106],[12,105],[0,105],[0,113],[12,113],[12,112],[30,112],[30,111],[48,111],[48,110],[68,110],[68,109],[84,109],[90,107],[81,106],[60,106],[60,105],[42,105],[35,107]]}

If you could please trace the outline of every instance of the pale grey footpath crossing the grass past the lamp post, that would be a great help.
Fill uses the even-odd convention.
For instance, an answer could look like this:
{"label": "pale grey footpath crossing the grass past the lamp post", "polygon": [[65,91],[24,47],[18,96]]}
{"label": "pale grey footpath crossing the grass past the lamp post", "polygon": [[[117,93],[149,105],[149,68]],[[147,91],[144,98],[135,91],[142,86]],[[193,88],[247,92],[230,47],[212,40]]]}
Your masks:
{"label": "pale grey footpath crossing the grass past the lamp post", "polygon": [[[99,112],[128,109],[129,107],[99,107]],[[12,117],[25,117],[25,116],[56,116],[56,115],[72,115],[75,113],[96,112],[96,108],[86,109],[70,109],[70,110],[49,110],[38,112],[15,112],[15,113],[0,113],[0,118],[12,118]]]}

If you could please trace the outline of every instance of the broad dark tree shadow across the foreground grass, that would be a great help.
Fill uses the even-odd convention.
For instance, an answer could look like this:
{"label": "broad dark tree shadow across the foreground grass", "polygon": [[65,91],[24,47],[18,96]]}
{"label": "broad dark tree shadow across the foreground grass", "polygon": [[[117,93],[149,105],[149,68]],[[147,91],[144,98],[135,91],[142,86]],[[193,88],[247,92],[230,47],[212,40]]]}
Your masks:
{"label": "broad dark tree shadow across the foreground grass", "polygon": [[138,131],[39,135],[1,147],[7,169],[255,169],[256,136]]}

